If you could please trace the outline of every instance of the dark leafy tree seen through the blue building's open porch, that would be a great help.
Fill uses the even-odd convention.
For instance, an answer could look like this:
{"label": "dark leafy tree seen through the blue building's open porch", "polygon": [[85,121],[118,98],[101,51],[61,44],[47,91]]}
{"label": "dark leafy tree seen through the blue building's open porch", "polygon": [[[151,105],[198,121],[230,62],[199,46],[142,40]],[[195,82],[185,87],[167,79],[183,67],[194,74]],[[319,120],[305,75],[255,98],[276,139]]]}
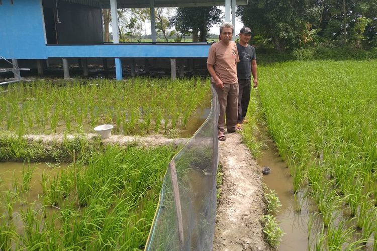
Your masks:
{"label": "dark leafy tree seen through the blue building's open porch", "polygon": [[205,42],[212,25],[221,22],[221,14],[222,11],[214,6],[178,8],[176,15],[170,18],[170,26],[175,26],[183,35],[192,33],[193,42]]}

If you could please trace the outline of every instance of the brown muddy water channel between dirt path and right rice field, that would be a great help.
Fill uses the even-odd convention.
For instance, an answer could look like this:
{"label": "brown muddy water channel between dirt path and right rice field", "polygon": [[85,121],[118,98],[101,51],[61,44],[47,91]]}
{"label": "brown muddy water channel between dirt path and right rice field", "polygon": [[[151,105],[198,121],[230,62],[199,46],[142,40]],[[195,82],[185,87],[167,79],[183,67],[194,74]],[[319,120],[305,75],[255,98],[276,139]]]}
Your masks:
{"label": "brown muddy water channel between dirt path and right rice field", "polygon": [[[279,222],[279,226],[286,233],[282,236],[278,250],[309,250],[307,222],[310,209],[306,202],[303,203],[300,199],[303,197],[303,193],[297,193],[299,199],[296,201],[301,200],[301,202],[295,202],[293,181],[289,168],[281,160],[273,141],[263,131],[265,130],[260,130],[263,134],[262,141],[264,147],[261,150],[261,157],[257,159],[257,162],[260,167],[267,166],[271,168],[271,173],[264,175],[263,181],[267,185],[268,191],[270,189],[275,190],[276,195],[279,197],[281,208],[275,216]],[[301,212],[297,211],[298,207],[301,207]],[[311,237],[311,239],[313,238]]]}

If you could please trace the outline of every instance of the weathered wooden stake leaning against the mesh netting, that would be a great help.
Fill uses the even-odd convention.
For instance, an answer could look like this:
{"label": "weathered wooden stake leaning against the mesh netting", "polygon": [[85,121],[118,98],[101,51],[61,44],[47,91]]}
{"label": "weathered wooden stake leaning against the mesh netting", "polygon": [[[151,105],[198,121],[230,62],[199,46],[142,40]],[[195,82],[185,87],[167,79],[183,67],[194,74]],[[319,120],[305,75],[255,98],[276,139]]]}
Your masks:
{"label": "weathered wooden stake leaning against the mesh netting", "polygon": [[177,212],[177,220],[178,220],[178,233],[179,233],[179,249],[183,250],[183,220],[182,220],[182,209],[180,207],[180,199],[179,199],[179,189],[178,189],[178,179],[177,179],[177,172],[175,170],[175,162],[172,160],[169,163],[170,167],[170,176],[171,176],[171,184],[173,187],[173,195],[174,195],[174,202],[175,202],[175,209]]}

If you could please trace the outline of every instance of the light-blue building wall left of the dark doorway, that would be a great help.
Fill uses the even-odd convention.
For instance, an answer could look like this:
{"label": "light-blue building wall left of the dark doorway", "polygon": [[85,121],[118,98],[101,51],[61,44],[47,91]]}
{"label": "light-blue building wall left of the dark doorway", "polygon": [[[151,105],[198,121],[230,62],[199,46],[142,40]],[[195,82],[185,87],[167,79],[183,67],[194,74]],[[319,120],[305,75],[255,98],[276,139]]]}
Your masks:
{"label": "light-blue building wall left of the dark doorway", "polygon": [[3,0],[0,5],[0,55],[47,58],[41,0]]}

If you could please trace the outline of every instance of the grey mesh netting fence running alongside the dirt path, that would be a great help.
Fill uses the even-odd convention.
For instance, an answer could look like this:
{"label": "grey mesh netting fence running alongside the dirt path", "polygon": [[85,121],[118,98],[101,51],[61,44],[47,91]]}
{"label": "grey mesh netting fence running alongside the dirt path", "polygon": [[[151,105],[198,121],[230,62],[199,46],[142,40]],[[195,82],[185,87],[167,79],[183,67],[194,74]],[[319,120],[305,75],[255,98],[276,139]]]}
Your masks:
{"label": "grey mesh netting fence running alongside the dirt path", "polygon": [[220,108],[211,90],[210,114],[168,166],[145,250],[212,250]]}

